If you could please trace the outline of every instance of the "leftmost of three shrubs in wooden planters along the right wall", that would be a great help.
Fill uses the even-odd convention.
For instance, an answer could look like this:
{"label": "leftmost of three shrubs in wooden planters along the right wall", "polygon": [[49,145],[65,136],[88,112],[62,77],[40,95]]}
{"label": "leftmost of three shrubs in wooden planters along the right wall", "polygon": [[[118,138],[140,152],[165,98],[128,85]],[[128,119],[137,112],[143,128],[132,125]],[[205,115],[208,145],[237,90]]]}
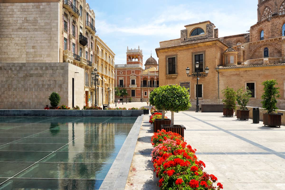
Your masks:
{"label": "leftmost of three shrubs in wooden planters along the right wall", "polygon": [[223,108],[223,115],[224,116],[231,116],[233,117],[233,112],[236,109],[235,106],[235,101],[236,101],[236,92],[234,91],[233,88],[227,88],[222,90],[222,93],[224,95],[223,103],[224,103],[224,108]]}

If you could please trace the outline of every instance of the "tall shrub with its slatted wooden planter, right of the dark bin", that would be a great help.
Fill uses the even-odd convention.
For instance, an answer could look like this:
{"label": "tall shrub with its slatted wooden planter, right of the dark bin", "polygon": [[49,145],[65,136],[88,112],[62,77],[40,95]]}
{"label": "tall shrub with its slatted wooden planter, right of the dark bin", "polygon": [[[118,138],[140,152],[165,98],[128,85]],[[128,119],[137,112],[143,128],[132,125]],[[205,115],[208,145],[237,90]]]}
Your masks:
{"label": "tall shrub with its slatted wooden planter, right of the dark bin", "polygon": [[276,110],[278,110],[278,108],[276,107],[276,98],[280,97],[279,87],[274,87],[277,84],[277,81],[274,79],[262,82],[262,85],[264,86],[264,92],[261,96],[261,103],[262,108],[267,110],[267,112],[263,114],[264,126],[268,125],[280,127],[281,125],[282,114],[276,113]]}

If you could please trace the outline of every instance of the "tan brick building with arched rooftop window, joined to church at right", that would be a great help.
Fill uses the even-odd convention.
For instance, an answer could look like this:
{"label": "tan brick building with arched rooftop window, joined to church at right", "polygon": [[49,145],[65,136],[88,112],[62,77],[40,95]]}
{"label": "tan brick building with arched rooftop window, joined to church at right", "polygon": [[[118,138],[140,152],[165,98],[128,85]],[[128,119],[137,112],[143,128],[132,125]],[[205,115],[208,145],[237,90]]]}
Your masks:
{"label": "tan brick building with arched rooftop window, joined to church at right", "polygon": [[205,21],[186,25],[178,39],[160,42],[156,48],[160,85],[189,87],[196,105],[196,77],[187,77],[185,69],[194,73],[194,63],[200,62],[200,72],[210,69],[198,82],[200,105],[221,104],[221,90],[229,86],[249,87],[248,106],[261,107],[261,83],[276,79],[281,95],[277,107],[285,109],[285,1],[259,0],[257,12],[258,22],[246,34],[219,38],[215,25]]}

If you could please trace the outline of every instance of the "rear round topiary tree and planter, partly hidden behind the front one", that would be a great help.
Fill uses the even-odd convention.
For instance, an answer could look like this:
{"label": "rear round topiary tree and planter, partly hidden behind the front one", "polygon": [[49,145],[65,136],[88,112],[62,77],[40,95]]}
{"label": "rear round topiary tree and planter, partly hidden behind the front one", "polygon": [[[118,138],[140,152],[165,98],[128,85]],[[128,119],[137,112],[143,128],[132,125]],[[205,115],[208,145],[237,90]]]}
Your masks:
{"label": "rear round topiary tree and planter, partly hidden behind the front one", "polygon": [[[164,101],[164,97],[163,97],[163,89],[165,87],[161,86],[158,88],[155,88],[149,95],[149,103],[151,105],[154,105],[155,108],[157,110],[162,110],[161,111],[161,119],[154,119],[153,122],[153,132],[157,132],[158,130],[161,130],[161,125],[170,125],[171,120],[165,118],[164,116],[164,107],[163,107],[163,101]],[[156,112],[154,112],[156,113]]]}

